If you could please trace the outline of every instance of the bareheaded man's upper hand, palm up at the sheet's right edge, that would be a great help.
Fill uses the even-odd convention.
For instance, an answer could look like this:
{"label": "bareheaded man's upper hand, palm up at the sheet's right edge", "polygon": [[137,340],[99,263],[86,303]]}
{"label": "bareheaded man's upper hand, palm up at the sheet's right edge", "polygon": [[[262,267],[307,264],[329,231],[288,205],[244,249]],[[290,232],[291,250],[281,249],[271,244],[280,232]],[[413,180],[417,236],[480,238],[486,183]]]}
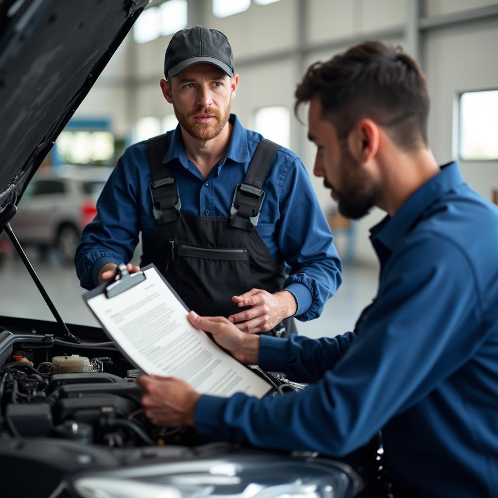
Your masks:
{"label": "bareheaded man's upper hand, palm up at the sheet's right edge", "polygon": [[246,365],[257,365],[259,336],[245,334],[223,316],[199,316],[191,311],[188,319],[196,329],[211,333],[214,340],[236,360]]}

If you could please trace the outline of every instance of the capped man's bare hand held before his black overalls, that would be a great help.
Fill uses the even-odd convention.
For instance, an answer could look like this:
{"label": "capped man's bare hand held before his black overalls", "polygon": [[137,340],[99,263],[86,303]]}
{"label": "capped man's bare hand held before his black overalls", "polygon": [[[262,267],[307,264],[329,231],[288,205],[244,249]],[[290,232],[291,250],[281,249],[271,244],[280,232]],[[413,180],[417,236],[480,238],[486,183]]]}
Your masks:
{"label": "capped man's bare hand held before his black overalls", "polygon": [[267,332],[297,311],[296,299],[288,290],[270,294],[262,289],[251,289],[234,296],[232,301],[241,308],[251,306],[249,310],[228,317],[240,330],[249,334]]}

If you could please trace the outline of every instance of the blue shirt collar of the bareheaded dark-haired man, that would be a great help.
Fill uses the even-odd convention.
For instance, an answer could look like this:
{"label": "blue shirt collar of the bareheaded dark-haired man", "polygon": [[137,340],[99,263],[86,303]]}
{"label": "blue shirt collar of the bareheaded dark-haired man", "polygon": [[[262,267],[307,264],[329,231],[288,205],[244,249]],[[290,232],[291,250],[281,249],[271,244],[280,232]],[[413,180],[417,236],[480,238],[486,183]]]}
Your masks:
{"label": "blue shirt collar of the bareheaded dark-haired man", "polygon": [[441,166],[441,171],[416,190],[392,218],[386,216],[370,230],[374,247],[380,242],[392,250],[431,204],[463,181],[455,161]]}

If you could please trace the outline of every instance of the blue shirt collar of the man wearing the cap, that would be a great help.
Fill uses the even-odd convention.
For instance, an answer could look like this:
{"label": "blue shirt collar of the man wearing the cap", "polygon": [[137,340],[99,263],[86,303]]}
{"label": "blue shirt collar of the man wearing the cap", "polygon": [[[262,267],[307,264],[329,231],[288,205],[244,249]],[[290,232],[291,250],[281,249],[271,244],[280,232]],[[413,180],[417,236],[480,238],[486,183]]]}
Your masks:
{"label": "blue shirt collar of the man wearing the cap", "polygon": [[[220,161],[219,168],[227,159],[231,159],[234,162],[249,161],[248,137],[246,129],[242,126],[235,114],[230,115],[229,123],[232,124],[232,136],[230,137],[227,153]],[[173,159],[178,159],[184,168],[189,169],[189,161],[185,154],[185,146],[183,144],[180,124],[178,124],[173,131],[169,132],[169,140],[169,147],[162,162],[168,163]]]}

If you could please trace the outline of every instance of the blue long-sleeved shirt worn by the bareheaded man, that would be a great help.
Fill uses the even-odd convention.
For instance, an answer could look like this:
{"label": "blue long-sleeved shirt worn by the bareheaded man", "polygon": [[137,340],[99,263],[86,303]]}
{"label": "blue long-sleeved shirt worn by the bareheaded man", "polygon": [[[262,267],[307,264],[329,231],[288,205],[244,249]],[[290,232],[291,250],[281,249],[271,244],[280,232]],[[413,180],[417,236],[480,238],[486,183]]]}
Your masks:
{"label": "blue long-sleeved shirt worn by the bareheaded man", "polygon": [[310,385],[276,398],[201,396],[195,427],[335,457],[381,429],[402,496],[496,497],[498,209],[451,163],[371,239],[378,293],[355,333],[261,337],[261,368]]}

